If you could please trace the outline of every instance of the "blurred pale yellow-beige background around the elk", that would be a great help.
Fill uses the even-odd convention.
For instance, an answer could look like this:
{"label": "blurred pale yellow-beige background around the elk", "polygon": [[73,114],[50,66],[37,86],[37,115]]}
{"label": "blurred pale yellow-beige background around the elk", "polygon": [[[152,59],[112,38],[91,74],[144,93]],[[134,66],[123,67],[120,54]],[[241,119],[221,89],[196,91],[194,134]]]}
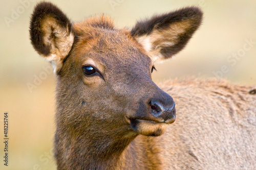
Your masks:
{"label": "blurred pale yellow-beige background around the elk", "polygon": [[[56,78],[29,40],[30,15],[39,1],[0,1],[0,169],[56,169],[54,137]],[[256,1],[106,0],[51,1],[73,21],[109,14],[118,27],[185,6],[199,6],[203,25],[185,50],[153,73],[155,82],[188,76],[224,78],[256,85]],[[3,164],[4,112],[9,113],[9,163]]]}

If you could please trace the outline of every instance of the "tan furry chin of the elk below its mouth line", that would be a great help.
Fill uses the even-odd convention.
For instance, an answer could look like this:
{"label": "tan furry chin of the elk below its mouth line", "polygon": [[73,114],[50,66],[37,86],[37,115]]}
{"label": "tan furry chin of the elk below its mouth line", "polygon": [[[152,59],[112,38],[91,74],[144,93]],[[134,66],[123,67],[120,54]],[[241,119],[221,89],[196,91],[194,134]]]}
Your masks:
{"label": "tan furry chin of the elk below its mouth line", "polygon": [[167,123],[143,119],[130,119],[130,124],[134,132],[144,136],[160,136],[168,127]]}

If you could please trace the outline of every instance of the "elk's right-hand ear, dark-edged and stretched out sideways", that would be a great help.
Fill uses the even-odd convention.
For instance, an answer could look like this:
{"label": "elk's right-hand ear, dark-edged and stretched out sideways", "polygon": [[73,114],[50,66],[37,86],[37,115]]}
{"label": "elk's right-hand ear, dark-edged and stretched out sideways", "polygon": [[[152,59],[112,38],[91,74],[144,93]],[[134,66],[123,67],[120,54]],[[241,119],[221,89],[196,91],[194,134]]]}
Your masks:
{"label": "elk's right-hand ear, dark-edged and stretched out sideways", "polygon": [[187,7],[151,19],[139,21],[131,35],[154,61],[168,59],[184,48],[199,28],[202,11]]}

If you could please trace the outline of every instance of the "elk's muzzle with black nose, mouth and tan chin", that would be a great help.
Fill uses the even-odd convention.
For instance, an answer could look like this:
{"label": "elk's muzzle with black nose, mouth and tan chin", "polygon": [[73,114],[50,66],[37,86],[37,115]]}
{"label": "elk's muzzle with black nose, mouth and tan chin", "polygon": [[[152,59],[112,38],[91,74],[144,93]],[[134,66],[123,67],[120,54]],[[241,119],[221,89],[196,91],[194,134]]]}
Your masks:
{"label": "elk's muzzle with black nose, mouth and tan chin", "polygon": [[[161,92],[161,98],[152,98],[143,105],[136,116],[126,117],[134,132],[145,136],[162,135],[176,119],[175,102],[171,96]],[[142,113],[141,113],[142,112]]]}

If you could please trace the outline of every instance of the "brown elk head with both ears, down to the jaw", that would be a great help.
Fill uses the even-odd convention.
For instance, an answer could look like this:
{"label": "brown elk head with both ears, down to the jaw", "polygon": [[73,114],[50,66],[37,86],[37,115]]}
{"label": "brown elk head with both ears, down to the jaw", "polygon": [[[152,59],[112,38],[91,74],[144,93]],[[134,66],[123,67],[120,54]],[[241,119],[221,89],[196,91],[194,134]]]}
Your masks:
{"label": "brown elk head with both ears, down to the jaw", "polygon": [[176,118],[175,102],[151,78],[154,63],[171,58],[200,26],[196,7],[117,29],[107,16],[71,23],[51,3],[34,9],[30,37],[57,75],[57,131],[159,136]]}

